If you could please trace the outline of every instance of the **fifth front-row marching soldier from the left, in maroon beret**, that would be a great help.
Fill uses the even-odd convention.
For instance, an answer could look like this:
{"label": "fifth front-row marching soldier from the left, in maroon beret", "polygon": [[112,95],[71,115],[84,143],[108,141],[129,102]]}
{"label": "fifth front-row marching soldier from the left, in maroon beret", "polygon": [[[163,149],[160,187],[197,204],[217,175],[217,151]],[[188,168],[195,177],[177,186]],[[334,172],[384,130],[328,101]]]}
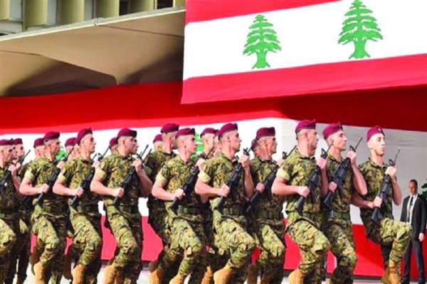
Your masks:
{"label": "fifth front-row marching soldier from the left, in maroon beret", "polygon": [[[187,275],[191,274],[189,283],[201,283],[204,276],[206,257],[206,236],[204,233],[203,216],[199,200],[195,192],[187,192],[184,197],[183,186],[194,170],[191,155],[196,153],[194,129],[180,129],[176,132],[176,145],[179,155],[164,163],[157,174],[152,194],[166,202],[169,220],[172,225],[172,241],[170,249],[159,263],[158,268],[150,275],[150,283],[159,284],[162,276],[172,264],[184,254],[178,274],[170,284],[184,284]],[[183,199],[184,197],[184,199]],[[171,202],[181,200],[176,212],[172,210]]]}

